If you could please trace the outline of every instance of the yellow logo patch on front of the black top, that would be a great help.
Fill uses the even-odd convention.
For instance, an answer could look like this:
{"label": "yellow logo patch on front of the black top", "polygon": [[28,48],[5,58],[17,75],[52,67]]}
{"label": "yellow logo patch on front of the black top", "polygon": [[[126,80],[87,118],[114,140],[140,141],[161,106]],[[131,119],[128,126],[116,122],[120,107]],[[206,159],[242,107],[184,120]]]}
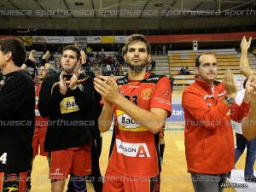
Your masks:
{"label": "yellow logo patch on front of the black top", "polygon": [[76,112],[79,111],[79,106],[75,101],[75,98],[73,96],[69,96],[67,98],[64,98],[61,101],[61,114],[63,113],[72,113],[72,112]]}

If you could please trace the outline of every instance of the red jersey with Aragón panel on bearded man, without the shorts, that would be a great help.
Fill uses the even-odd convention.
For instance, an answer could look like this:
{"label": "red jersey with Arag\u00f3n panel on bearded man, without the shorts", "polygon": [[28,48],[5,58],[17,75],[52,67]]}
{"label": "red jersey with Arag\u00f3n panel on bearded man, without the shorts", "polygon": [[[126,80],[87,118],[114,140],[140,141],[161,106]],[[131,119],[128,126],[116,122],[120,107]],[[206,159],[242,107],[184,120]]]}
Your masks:
{"label": "red jersey with Arag\u00f3n panel on bearded man, without the shorts", "polygon": [[[171,115],[171,83],[166,76],[146,73],[142,81],[125,77],[118,79],[117,84],[122,85],[121,94],[139,108],[162,108]],[[129,177],[159,175],[155,135],[119,108],[114,110],[114,121],[115,141],[108,166]]]}

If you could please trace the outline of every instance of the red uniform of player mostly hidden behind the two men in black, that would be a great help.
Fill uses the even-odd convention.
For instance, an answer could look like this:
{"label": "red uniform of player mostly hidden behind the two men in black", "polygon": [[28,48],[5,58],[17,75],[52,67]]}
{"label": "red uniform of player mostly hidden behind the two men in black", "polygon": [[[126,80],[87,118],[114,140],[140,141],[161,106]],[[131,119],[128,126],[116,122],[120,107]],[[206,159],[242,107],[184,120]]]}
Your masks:
{"label": "red uniform of player mostly hidden behind the two men in black", "polygon": [[33,147],[33,157],[38,155],[38,148],[40,148],[41,156],[48,156],[49,153],[44,151],[44,138],[47,131],[47,122],[48,118],[43,118],[38,111],[38,98],[39,92],[41,90],[41,84],[35,84],[35,92],[36,92],[36,106],[35,106],[35,114],[36,114],[36,127],[34,131],[34,136],[32,140]]}

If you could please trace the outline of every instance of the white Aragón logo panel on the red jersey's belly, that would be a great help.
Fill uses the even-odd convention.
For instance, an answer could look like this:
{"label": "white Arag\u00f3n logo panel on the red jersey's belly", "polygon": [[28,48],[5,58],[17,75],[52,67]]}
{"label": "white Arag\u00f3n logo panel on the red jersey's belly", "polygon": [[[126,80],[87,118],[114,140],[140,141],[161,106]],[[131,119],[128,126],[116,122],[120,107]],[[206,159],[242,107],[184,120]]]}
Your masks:
{"label": "white Arag\u00f3n logo panel on the red jersey's belly", "polygon": [[117,152],[128,157],[150,157],[146,143],[125,143],[116,139]]}

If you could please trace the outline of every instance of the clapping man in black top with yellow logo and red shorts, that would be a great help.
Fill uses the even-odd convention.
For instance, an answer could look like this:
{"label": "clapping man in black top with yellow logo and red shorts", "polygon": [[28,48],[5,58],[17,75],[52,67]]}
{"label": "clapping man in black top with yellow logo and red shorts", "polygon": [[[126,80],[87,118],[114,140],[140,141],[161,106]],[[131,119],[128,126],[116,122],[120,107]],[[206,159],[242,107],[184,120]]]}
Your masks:
{"label": "clapping man in black top with yellow logo and red shorts", "polygon": [[91,129],[96,129],[96,100],[93,79],[78,73],[80,51],[73,45],[63,49],[61,74],[45,79],[38,109],[49,117],[44,148],[50,152],[49,177],[54,192],[64,190],[68,174],[73,175],[75,191],[85,188],[90,174]]}

